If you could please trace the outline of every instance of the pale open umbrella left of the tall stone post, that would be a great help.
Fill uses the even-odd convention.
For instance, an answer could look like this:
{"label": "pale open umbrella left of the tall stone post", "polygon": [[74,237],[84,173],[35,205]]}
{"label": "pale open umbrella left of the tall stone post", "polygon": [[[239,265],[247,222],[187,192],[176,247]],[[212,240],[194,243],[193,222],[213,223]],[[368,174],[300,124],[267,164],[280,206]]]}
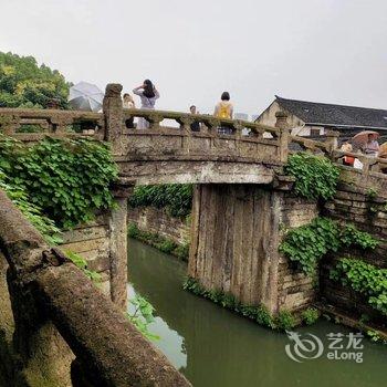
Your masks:
{"label": "pale open umbrella left of the tall stone post", "polygon": [[104,93],[87,82],[80,82],[70,87],[69,103],[79,111],[98,112],[102,108]]}

